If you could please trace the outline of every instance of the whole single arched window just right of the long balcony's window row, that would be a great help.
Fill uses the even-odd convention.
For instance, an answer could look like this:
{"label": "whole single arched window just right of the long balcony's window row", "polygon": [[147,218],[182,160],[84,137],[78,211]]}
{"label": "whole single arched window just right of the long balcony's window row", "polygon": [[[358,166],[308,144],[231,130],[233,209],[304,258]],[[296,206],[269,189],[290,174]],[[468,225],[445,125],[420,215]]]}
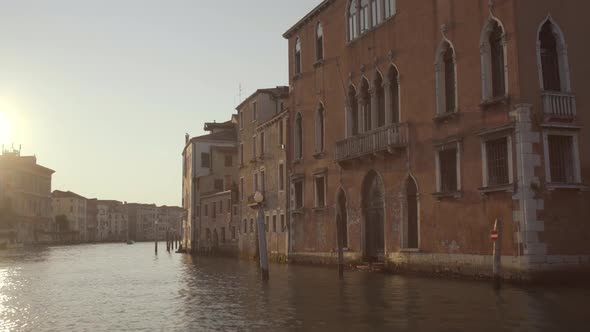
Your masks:
{"label": "whole single arched window just right of the long balcony's window row", "polygon": [[455,51],[448,41],[443,41],[436,59],[437,114],[457,111],[457,80]]}

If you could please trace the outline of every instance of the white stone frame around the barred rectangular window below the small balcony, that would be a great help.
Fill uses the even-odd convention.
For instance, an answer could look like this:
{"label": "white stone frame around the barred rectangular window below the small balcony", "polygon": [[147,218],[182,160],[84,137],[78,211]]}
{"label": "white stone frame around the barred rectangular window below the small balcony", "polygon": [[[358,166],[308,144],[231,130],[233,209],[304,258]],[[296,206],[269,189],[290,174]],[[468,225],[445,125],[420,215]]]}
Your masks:
{"label": "white stone frame around the barred rectangular window below the small balcony", "polygon": [[[572,161],[574,163],[574,177],[573,183],[560,183],[551,181],[551,160],[549,156],[549,136],[569,136],[572,138]],[[582,168],[580,162],[580,148],[578,142],[578,131],[568,130],[566,128],[546,128],[543,130],[543,154],[545,162],[545,182],[547,187],[552,189],[559,188],[582,188]]]}

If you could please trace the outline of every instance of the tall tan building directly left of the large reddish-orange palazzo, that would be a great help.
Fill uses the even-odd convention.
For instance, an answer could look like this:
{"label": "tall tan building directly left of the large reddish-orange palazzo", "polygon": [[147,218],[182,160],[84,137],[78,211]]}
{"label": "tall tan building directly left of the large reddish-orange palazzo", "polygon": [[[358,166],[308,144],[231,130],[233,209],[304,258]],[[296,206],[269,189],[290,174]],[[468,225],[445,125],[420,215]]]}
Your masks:
{"label": "tall tan building directly left of the large reddish-orange palazzo", "polygon": [[288,252],[288,87],[260,89],[238,107],[240,252],[257,252],[256,191],[264,193],[267,248],[271,257]]}

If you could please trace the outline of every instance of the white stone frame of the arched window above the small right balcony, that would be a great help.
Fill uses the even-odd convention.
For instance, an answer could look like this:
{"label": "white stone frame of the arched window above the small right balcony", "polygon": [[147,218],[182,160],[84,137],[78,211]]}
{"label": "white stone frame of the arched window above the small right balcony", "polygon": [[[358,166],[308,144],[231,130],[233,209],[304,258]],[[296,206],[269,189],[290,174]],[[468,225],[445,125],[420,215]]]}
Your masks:
{"label": "white stone frame of the arched window above the small right balcony", "polygon": [[[567,43],[565,42],[565,35],[563,30],[559,27],[559,25],[555,22],[551,15],[548,15],[542,22],[539,24],[537,28],[536,44],[537,44],[537,72],[539,75],[539,86],[541,87],[541,91],[545,91],[545,84],[543,83],[543,62],[541,60],[541,29],[545,25],[545,23],[551,22],[551,26],[553,27],[553,35],[555,36],[555,41],[557,42],[557,55],[559,57],[559,80],[561,84],[561,92],[563,93],[572,93],[572,86],[570,80],[570,67],[568,61],[568,47]],[[555,91],[557,92],[557,91]]]}

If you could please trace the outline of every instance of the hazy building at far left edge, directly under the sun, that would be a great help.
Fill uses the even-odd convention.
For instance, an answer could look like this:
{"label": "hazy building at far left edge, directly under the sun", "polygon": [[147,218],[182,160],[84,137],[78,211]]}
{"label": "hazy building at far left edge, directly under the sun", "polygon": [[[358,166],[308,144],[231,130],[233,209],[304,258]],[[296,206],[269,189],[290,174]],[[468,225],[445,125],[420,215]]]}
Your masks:
{"label": "hazy building at far left edge, directly under the sun", "polygon": [[0,246],[51,241],[51,176],[34,156],[0,156]]}

